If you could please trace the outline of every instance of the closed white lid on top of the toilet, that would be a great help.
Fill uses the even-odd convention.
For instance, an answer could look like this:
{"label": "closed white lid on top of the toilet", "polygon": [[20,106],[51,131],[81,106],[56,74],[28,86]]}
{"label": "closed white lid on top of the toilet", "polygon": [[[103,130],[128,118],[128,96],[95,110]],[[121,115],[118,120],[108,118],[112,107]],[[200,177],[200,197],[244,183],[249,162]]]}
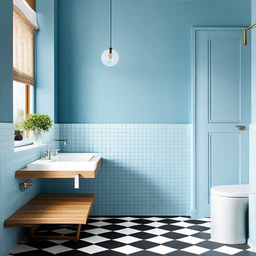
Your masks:
{"label": "closed white lid on top of the toilet", "polygon": [[256,194],[256,185],[225,185],[211,188],[211,193],[226,197],[249,197],[249,194]]}

